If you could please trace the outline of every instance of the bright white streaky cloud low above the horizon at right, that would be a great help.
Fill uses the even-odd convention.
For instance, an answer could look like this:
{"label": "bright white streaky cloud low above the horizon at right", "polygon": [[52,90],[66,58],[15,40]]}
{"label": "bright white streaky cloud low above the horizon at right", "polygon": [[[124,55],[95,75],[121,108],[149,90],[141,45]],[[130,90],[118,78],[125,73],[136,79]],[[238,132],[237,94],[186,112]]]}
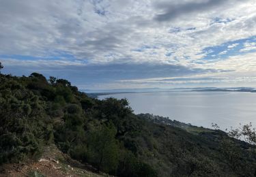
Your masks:
{"label": "bright white streaky cloud low above the horizon at right", "polygon": [[204,69],[214,68],[202,74],[188,74],[186,76],[158,77],[146,79],[120,80],[120,85],[132,84],[162,87],[177,86],[255,86],[256,85],[256,52],[218,60],[213,63],[203,63]]}

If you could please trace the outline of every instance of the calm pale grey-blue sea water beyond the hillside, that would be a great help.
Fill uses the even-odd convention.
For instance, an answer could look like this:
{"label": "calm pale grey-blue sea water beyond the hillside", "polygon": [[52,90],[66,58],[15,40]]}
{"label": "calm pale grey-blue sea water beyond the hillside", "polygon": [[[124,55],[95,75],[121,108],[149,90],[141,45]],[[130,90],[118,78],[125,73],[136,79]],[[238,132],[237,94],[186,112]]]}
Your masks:
{"label": "calm pale grey-blue sea water beyond the hillside", "polygon": [[127,98],[135,114],[169,116],[192,125],[221,129],[253,123],[256,127],[256,93],[240,92],[165,92],[120,93],[102,95],[99,99]]}

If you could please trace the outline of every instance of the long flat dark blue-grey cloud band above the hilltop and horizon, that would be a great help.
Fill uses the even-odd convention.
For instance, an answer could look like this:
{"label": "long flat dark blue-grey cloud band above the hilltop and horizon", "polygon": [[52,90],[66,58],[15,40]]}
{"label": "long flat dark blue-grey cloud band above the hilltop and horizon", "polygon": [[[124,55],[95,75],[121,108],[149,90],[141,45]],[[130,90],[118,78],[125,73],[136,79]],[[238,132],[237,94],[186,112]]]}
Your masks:
{"label": "long flat dark blue-grey cloud band above the hilltop and horizon", "polygon": [[[27,62],[27,63],[26,63]],[[21,64],[21,65],[20,65]],[[116,63],[106,65],[65,65],[58,61],[3,61],[4,74],[18,76],[40,72],[45,76],[66,78],[73,84],[100,84],[118,82],[118,80],[147,79],[161,77],[188,76],[193,74],[212,73],[214,69],[189,68],[182,65],[164,65],[149,63]]]}

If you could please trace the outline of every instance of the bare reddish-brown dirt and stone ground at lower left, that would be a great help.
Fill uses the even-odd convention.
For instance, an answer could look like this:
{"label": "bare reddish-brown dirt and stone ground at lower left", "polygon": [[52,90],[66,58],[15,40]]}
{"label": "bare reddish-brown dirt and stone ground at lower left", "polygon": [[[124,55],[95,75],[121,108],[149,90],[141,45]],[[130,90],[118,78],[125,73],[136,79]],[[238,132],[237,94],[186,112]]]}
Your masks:
{"label": "bare reddish-brown dirt and stone ground at lower left", "polygon": [[0,177],[68,177],[91,176],[102,177],[106,174],[96,174],[91,165],[84,165],[60,152],[56,146],[48,146],[40,160],[30,163],[12,163],[0,166]]}

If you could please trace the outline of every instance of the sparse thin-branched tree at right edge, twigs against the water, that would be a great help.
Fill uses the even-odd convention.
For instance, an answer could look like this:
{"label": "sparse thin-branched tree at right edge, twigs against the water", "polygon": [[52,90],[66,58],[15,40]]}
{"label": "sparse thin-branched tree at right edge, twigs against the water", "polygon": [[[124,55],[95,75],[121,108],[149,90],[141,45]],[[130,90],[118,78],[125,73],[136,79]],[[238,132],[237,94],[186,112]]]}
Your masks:
{"label": "sparse thin-branched tree at right edge, twigs against the water", "polygon": [[[212,127],[214,127],[216,131],[221,131],[217,124],[212,123]],[[228,129],[226,129],[226,131],[228,131]],[[238,140],[246,142],[243,148],[251,148],[251,150],[246,150],[244,153],[241,144],[238,144]],[[221,135],[219,150],[222,152],[225,159],[227,159],[234,172],[241,176],[251,176],[252,172],[256,172],[255,164],[248,163],[246,158],[251,156],[251,159],[255,159],[255,144],[256,131],[250,123],[238,127],[237,129],[231,127],[227,134]]]}

